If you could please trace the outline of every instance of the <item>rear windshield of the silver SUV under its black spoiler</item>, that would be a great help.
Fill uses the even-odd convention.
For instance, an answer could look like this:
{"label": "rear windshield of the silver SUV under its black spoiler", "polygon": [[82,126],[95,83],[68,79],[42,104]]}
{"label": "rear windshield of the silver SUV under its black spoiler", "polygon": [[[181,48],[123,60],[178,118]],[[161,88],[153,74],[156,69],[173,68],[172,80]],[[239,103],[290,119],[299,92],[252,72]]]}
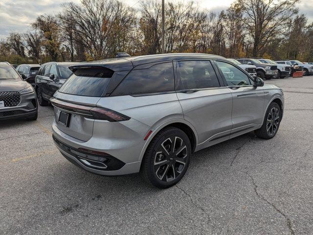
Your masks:
{"label": "rear windshield of the silver SUV under its black spoiler", "polygon": [[112,74],[113,71],[106,68],[78,69],[67,79],[59,92],[101,97]]}

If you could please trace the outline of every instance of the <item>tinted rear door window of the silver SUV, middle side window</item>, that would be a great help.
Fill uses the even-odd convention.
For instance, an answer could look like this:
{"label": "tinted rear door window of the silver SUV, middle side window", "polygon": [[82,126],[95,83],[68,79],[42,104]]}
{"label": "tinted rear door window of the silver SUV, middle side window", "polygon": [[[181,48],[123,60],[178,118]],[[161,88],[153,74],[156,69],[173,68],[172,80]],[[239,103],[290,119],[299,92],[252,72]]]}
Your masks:
{"label": "tinted rear door window of the silver SUV, middle side window", "polygon": [[220,87],[210,61],[179,61],[180,84],[177,90]]}

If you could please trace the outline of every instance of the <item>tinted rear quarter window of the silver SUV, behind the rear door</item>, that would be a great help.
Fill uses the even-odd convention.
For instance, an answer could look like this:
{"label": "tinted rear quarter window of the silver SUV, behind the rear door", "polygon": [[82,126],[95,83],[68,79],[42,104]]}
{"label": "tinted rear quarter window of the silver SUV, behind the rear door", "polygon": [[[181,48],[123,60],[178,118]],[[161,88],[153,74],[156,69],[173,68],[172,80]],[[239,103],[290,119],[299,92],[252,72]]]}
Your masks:
{"label": "tinted rear quarter window of the silver SUV, behind the rear door", "polygon": [[133,70],[115,89],[112,96],[151,94],[174,91],[173,63],[162,63],[148,69]]}

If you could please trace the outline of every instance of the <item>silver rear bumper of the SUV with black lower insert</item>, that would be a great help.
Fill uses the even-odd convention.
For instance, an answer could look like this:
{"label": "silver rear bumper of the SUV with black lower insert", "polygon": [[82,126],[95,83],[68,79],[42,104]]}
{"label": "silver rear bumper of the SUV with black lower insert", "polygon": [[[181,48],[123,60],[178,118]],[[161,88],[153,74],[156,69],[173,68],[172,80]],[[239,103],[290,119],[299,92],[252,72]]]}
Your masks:
{"label": "silver rear bumper of the SUV with black lower insert", "polygon": [[[149,127],[134,120],[130,119],[129,125],[137,127],[137,133],[129,129],[129,127],[126,126],[126,121],[121,124],[118,122],[110,122],[110,126],[112,126],[115,130],[118,130],[118,126],[113,125],[125,125],[125,131],[122,133],[124,136],[124,139],[122,138],[116,138],[116,133],[112,133],[112,137],[104,137],[104,132],[102,128],[107,129],[108,126],[106,126],[106,123],[101,123],[101,126],[94,127],[93,129],[93,135],[88,141],[81,141],[78,139],[75,139],[63,131],[61,131],[56,121],[52,124],[52,130],[53,130],[53,137],[54,139],[57,139],[60,141],[63,145],[67,146],[64,148],[62,144],[60,145],[58,141],[54,140],[57,148],[60,150],[61,154],[71,163],[75,164],[76,166],[79,166],[80,168],[89,171],[91,173],[99,174],[99,175],[106,175],[106,176],[114,176],[114,175],[126,175],[126,174],[133,174],[137,173],[140,170],[141,161],[139,161],[140,153],[143,149],[145,141],[143,141],[143,137],[146,135],[146,132],[149,130]],[[96,124],[95,124],[96,125]],[[130,131],[132,133],[132,138],[128,139],[128,133],[127,131]],[[137,135],[139,133],[140,135]],[[110,169],[110,165],[108,164],[108,168],[102,168],[102,169],[96,169],[95,167],[91,166],[89,167],[88,164],[84,163],[84,159],[89,160],[90,158],[82,157],[81,153],[75,151],[77,149],[85,148],[92,151],[98,151],[98,152],[104,152],[109,155],[108,158],[112,158],[113,160],[116,159],[119,162],[122,162],[120,168],[118,169]],[[74,149],[73,151],[70,151],[70,149]],[[92,156],[91,156],[92,157]],[[94,157],[94,156],[93,156]],[[103,156],[106,158],[106,156]],[[83,158],[83,161],[82,161]],[[94,159],[92,159],[94,161]],[[106,162],[104,162],[106,164]]]}

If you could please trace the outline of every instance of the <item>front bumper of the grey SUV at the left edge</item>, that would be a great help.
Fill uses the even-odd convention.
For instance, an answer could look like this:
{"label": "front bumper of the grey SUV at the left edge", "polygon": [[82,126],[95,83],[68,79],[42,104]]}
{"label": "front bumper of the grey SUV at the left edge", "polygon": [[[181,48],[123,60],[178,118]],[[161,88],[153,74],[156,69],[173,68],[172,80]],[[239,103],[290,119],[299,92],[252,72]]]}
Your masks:
{"label": "front bumper of the grey SUV at the left edge", "polygon": [[38,112],[36,93],[22,94],[21,102],[14,107],[0,108],[0,120],[12,118],[28,118]]}

